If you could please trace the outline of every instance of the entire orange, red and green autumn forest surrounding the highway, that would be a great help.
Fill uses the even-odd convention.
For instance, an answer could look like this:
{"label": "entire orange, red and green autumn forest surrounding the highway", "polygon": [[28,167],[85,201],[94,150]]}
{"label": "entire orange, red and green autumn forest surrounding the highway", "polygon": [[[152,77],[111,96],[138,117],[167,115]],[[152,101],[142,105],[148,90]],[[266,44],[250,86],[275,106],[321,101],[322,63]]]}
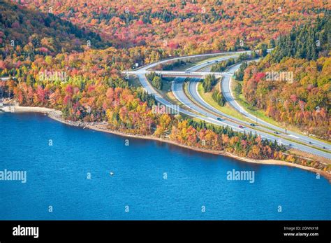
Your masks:
{"label": "entire orange, red and green autumn forest surrounding the highway", "polygon": [[[121,72],[170,56],[265,50],[245,57],[261,59],[236,74],[238,92],[265,116],[330,141],[330,9],[325,1],[0,0],[0,76],[10,77],[0,95],[57,109],[66,120],[105,121],[110,130],[330,170],[256,134],[153,113],[155,97]],[[268,71],[293,71],[293,82],[266,81]],[[151,82],[161,89],[161,78]]]}

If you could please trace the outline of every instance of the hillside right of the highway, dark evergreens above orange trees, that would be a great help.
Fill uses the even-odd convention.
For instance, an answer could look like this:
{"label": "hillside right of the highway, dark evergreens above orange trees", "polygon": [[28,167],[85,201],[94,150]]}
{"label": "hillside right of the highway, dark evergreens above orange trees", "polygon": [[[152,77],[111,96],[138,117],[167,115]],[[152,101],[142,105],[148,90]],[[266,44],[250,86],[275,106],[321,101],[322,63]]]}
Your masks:
{"label": "hillside right of the highway, dark evergreens above orange trees", "polygon": [[284,125],[330,140],[330,43],[330,13],[281,36],[270,55],[245,69],[247,102]]}

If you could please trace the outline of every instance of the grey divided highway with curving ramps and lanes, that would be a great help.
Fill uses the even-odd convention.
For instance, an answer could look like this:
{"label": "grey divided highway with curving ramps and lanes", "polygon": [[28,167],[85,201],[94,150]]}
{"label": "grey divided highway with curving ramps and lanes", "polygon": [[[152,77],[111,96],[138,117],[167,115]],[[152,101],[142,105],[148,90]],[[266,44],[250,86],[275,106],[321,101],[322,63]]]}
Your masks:
{"label": "grey divided highway with curving ramps and lanes", "polygon": [[[226,54],[228,54],[228,56],[226,56],[226,57],[220,57],[220,58],[215,59],[210,62],[202,62],[194,67],[191,67],[190,69],[187,69],[186,71],[191,71],[191,72],[192,71],[201,71],[202,69],[207,69],[207,67],[214,62],[226,60],[230,57],[237,57],[238,55],[240,55],[240,53],[243,53],[243,52],[226,53]],[[207,55],[194,55],[193,57],[203,57],[203,56],[208,57],[209,55],[208,54]],[[180,59],[184,59],[184,58],[187,58],[187,57],[177,57],[177,58],[172,58],[171,60],[178,60],[178,59],[180,60]],[[147,69],[155,67],[156,65],[159,65],[161,63],[169,62],[171,60],[163,60],[160,62],[156,62],[154,64],[149,64],[149,65],[142,67],[140,69],[137,69],[135,71],[129,71],[129,72],[124,72],[124,73],[137,75],[140,83],[142,84],[142,87],[145,88],[145,90],[147,92],[154,94],[156,101],[158,101],[162,104],[165,104],[167,106],[170,106],[172,104],[170,102],[168,102],[166,99],[164,99],[159,94],[159,92],[157,92],[152,87],[152,85],[149,83],[149,81],[147,81],[145,74],[147,72],[149,72],[149,71],[147,71]],[[230,92],[230,76],[232,76],[232,74],[235,72],[235,70],[237,70],[239,67],[240,67],[240,64],[237,64],[237,65],[231,67],[228,70],[228,72],[230,74],[226,74],[224,76],[223,82],[222,82],[223,95],[226,97],[226,100],[229,102],[229,104],[232,105],[235,109],[237,109],[238,112],[243,113],[244,116],[247,116],[247,118],[255,121],[256,117],[251,115],[247,111],[244,111],[244,109],[242,109],[240,104],[237,104],[235,99],[233,99],[233,96],[231,95],[231,92]],[[207,123],[212,123],[214,125],[228,125],[229,127],[232,127],[233,130],[236,130],[239,132],[245,131],[245,132],[257,133],[257,134],[260,134],[260,136],[263,137],[264,139],[269,139],[272,141],[275,141],[275,140],[281,141],[282,144],[285,144],[287,146],[290,145],[292,148],[297,148],[302,151],[309,151],[309,153],[314,153],[316,155],[320,155],[325,158],[331,158],[331,154],[328,153],[327,151],[321,151],[316,148],[311,148],[310,146],[307,146],[310,141],[311,145],[314,145],[316,147],[321,147],[321,148],[325,147],[326,149],[330,150],[331,149],[330,145],[323,141],[318,141],[311,137],[307,137],[302,134],[296,134],[296,133],[290,132],[290,131],[288,131],[288,134],[278,134],[278,135],[272,134],[272,132],[274,132],[274,130],[278,130],[281,132],[283,132],[284,130],[281,129],[280,127],[266,123],[265,121],[260,120],[260,119],[258,119],[258,122],[260,124],[262,124],[264,127],[260,127],[260,126],[251,127],[251,126],[249,126],[249,123],[247,123],[246,121],[242,121],[237,118],[233,118],[233,117],[228,116],[225,113],[222,113],[221,111],[215,109],[213,106],[210,106],[209,104],[207,104],[198,94],[197,79],[193,79],[193,81],[191,81],[189,83],[190,95],[191,95],[191,97],[193,97],[193,99],[195,99],[195,101],[192,102],[191,99],[186,97],[186,95],[184,93],[184,90],[183,90],[183,81],[184,80],[185,80],[184,77],[176,78],[176,82],[172,83],[172,92],[175,95],[176,99],[179,100],[179,102],[184,104],[184,106],[186,106],[186,108],[191,109],[191,111],[194,111],[194,113],[191,111],[188,111],[187,109],[181,109],[180,110],[181,113],[184,113],[191,117],[199,118],[200,120],[205,120]],[[224,119],[218,120],[217,119],[218,114]],[[247,126],[239,127],[238,123],[244,124],[244,125],[246,124]],[[269,130],[268,127],[272,128],[272,130]],[[281,136],[281,138],[279,136]],[[290,141],[290,140],[292,140],[292,141]],[[297,141],[297,142],[295,142],[295,141]],[[304,144],[307,144],[307,145],[304,145]]]}

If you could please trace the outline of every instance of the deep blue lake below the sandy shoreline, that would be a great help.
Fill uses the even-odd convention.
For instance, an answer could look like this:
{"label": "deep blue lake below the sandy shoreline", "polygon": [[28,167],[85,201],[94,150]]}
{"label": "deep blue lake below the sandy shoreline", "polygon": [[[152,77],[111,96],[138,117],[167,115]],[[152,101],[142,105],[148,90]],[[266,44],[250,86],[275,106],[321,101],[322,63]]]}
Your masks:
{"label": "deep blue lake below the sandy shoreline", "polygon": [[[0,127],[0,170],[27,172],[26,183],[0,181],[0,219],[331,219],[331,183],[302,169],[125,146],[34,113],[0,113]],[[253,171],[254,183],[227,180],[233,169]]]}

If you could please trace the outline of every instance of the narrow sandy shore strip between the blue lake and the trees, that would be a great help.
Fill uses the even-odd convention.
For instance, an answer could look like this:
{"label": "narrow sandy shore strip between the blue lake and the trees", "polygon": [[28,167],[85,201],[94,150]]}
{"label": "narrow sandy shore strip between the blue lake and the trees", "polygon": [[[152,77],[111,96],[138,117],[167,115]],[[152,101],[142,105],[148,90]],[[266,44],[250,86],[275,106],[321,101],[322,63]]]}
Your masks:
{"label": "narrow sandy shore strip between the blue lake and the trees", "polygon": [[148,139],[148,140],[154,140],[154,141],[160,141],[160,142],[164,142],[164,143],[168,143],[168,144],[172,144],[175,146],[179,146],[182,148],[187,148],[193,151],[198,151],[201,153],[211,153],[214,155],[224,155],[224,156],[228,156],[231,158],[235,158],[237,160],[241,160],[244,162],[250,162],[250,163],[254,163],[254,164],[261,164],[261,165],[282,165],[282,166],[289,166],[289,167],[296,167],[296,168],[300,168],[300,169],[305,169],[308,170],[309,172],[314,172],[314,173],[319,173],[322,176],[324,176],[325,178],[327,178],[329,181],[331,181],[331,174],[328,172],[323,172],[320,169],[315,169],[313,167],[307,167],[304,165],[297,165],[297,164],[293,164],[290,162],[285,162],[285,161],[281,161],[281,160],[253,160],[253,159],[249,159],[249,158],[242,158],[239,157],[237,155],[233,155],[232,153],[226,153],[223,151],[212,151],[209,149],[205,149],[205,148],[196,148],[196,147],[192,147],[192,146],[186,146],[184,144],[179,144],[175,141],[170,141],[169,139],[161,139],[159,137],[153,137],[153,136],[143,136],[143,135],[136,135],[136,134],[127,134],[124,132],[119,132],[119,131],[115,131],[115,130],[110,130],[108,129],[107,123],[103,122],[103,123],[84,123],[84,122],[73,122],[71,120],[64,120],[62,118],[62,113],[61,111],[57,111],[54,109],[48,109],[48,108],[44,108],[44,107],[31,107],[31,106],[4,106],[2,108],[0,108],[2,111],[5,112],[13,112],[13,113],[23,113],[23,112],[36,112],[36,113],[44,113],[47,114],[47,116],[49,116],[50,118],[52,118],[53,120],[57,120],[60,123],[65,123],[67,125],[73,125],[75,127],[84,127],[84,128],[88,128],[91,130],[96,130],[99,132],[108,132],[111,134],[117,134],[119,136],[122,137],[132,137],[135,139]]}

